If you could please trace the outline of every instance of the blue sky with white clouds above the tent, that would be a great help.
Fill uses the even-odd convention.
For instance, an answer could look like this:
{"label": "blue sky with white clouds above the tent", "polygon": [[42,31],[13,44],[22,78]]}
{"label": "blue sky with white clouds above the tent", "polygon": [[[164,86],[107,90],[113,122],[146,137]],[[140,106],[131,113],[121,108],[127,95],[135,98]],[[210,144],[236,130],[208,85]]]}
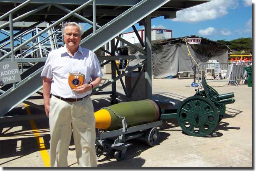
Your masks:
{"label": "blue sky with white clouds above the tent", "polygon": [[[175,19],[154,18],[152,28],[170,29],[173,38],[196,35],[214,41],[231,41],[252,37],[251,4],[251,0],[212,0],[178,11]],[[135,26],[138,30],[143,28]]]}

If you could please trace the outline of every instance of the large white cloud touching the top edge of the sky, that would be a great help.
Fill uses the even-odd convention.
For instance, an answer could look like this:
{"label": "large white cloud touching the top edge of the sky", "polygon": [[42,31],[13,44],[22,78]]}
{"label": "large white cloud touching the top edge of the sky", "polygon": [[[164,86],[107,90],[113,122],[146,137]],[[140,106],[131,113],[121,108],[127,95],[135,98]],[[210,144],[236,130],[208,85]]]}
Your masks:
{"label": "large white cloud touching the top edge of the sky", "polygon": [[177,12],[173,21],[195,23],[213,20],[228,14],[229,9],[238,7],[238,0],[212,0],[208,3],[197,5]]}

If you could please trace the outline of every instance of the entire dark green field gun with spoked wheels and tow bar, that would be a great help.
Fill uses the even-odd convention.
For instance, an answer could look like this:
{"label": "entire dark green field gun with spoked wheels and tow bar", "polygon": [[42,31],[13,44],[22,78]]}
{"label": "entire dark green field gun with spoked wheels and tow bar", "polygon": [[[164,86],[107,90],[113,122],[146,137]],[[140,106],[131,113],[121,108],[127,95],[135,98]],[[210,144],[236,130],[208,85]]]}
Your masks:
{"label": "entire dark green field gun with spoked wheels and tow bar", "polygon": [[[161,110],[160,119],[176,118],[188,135],[204,137],[211,134],[224,117],[226,105],[234,103],[234,93],[219,94],[202,80],[204,90],[180,102],[176,110]],[[174,112],[173,112],[174,111]]]}

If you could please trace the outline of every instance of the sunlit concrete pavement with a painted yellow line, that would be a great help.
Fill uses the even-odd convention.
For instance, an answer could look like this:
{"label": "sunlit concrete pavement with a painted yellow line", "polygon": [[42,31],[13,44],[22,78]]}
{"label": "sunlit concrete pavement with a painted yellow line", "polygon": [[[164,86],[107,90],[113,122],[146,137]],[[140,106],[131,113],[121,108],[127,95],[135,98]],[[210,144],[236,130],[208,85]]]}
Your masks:
{"label": "sunlit concrete pavement with a painted yellow line", "polygon": [[[110,75],[104,76],[107,79]],[[168,98],[173,102],[182,101],[195,94],[190,84],[193,79],[153,79],[154,98]],[[139,168],[139,167],[251,167],[252,166],[252,87],[247,85],[226,86],[226,82],[208,83],[219,94],[235,93],[234,104],[227,105],[224,119],[208,137],[186,135],[175,119],[163,120],[159,128],[159,144],[149,147],[144,141],[131,140],[133,146],[126,152],[125,160],[117,161],[113,154],[101,156],[98,167]],[[120,81],[118,92],[123,92]],[[110,86],[104,91],[110,91]],[[91,97],[95,110],[110,105],[109,95]],[[120,102],[124,101],[119,99]],[[43,107],[42,96],[31,98]],[[175,104],[171,104],[175,105]],[[21,103],[8,115],[42,113]],[[30,167],[47,166],[49,158],[49,123],[47,119],[34,120],[37,129],[29,120],[5,122],[0,125],[0,166]],[[41,143],[41,147],[38,144]],[[42,146],[43,145],[43,146]],[[40,149],[40,150],[39,150]],[[77,166],[73,140],[68,152],[68,165]]]}

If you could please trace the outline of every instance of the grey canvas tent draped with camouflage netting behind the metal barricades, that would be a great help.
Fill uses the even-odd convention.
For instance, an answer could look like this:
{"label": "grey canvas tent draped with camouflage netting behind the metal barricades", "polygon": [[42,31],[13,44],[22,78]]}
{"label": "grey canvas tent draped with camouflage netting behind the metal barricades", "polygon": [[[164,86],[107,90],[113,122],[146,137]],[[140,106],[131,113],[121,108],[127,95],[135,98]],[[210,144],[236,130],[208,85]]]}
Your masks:
{"label": "grey canvas tent draped with camouflage netting behind the metal barricades", "polygon": [[[198,36],[187,36],[185,38],[200,38]],[[155,78],[166,78],[177,76],[179,71],[193,71],[195,63],[206,63],[211,60],[227,62],[227,46],[201,38],[200,44],[188,44],[186,46],[184,37],[170,38],[165,40],[152,41],[152,74]],[[142,48],[140,43],[134,44]],[[188,56],[188,49],[193,56]],[[142,55],[140,51],[129,46],[119,47],[118,50],[123,55]],[[133,66],[141,62],[140,59],[130,60],[129,65]]]}

